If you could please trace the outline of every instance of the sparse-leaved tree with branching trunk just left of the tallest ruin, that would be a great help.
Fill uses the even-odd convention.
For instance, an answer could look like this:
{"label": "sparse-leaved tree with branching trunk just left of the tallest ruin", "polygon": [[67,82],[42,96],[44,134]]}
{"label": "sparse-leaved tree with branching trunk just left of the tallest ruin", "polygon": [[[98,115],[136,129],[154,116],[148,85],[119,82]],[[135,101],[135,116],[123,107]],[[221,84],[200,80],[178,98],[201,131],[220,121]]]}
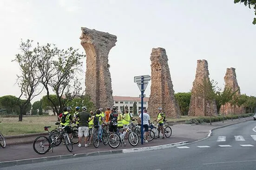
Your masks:
{"label": "sparse-leaved tree with branching trunk just left of the tallest ruin", "polygon": [[[55,45],[38,46],[37,66],[40,72],[40,82],[47,92],[47,98],[52,103],[57,115],[73,98],[80,95],[81,83],[77,77],[82,72],[82,61],[85,57],[78,49],[72,47],[64,50]],[[50,97],[53,91],[58,99],[58,105]]]}

